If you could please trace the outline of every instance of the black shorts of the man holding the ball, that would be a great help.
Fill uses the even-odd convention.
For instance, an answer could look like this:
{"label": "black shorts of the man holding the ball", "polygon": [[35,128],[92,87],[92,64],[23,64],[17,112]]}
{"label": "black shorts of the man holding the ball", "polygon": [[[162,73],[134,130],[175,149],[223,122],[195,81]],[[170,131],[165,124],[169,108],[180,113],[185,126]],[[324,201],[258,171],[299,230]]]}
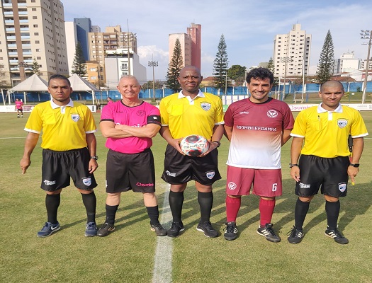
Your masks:
{"label": "black shorts of the man holding the ball", "polygon": [[212,185],[220,178],[217,149],[203,157],[185,156],[170,144],[167,145],[162,175],[162,179],[167,183],[179,185],[196,180],[202,185]]}

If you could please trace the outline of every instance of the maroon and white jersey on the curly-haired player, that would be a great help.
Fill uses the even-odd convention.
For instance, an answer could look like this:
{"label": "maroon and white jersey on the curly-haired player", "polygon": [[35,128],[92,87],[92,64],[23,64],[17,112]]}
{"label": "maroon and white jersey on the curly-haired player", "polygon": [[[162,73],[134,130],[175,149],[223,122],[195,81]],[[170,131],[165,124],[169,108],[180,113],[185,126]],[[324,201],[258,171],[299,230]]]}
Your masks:
{"label": "maroon and white jersey on the curly-haired player", "polygon": [[225,125],[233,127],[227,165],[253,169],[281,168],[281,135],[293,128],[286,103],[273,99],[252,103],[249,98],[232,103]]}

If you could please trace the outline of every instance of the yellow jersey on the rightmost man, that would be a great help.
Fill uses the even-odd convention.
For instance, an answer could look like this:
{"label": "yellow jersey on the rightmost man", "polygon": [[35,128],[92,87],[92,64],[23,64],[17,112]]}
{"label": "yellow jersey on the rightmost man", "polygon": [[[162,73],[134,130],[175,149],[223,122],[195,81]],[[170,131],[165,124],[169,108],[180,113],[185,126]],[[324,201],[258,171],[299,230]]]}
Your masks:
{"label": "yellow jersey on the rightmost man", "polygon": [[349,156],[349,134],[353,138],[368,135],[361,114],[348,106],[339,105],[329,112],[320,105],[301,111],[295,118],[291,136],[305,138],[301,154],[324,158]]}

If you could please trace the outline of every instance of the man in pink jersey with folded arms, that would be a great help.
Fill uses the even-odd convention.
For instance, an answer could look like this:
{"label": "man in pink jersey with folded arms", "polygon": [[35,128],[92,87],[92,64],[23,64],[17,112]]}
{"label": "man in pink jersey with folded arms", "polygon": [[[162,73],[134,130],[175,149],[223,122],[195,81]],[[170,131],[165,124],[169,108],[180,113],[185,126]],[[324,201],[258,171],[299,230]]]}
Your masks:
{"label": "man in pink jersey with folded arms", "polygon": [[107,138],[106,221],[98,236],[107,236],[115,229],[115,215],[121,192],[142,192],[150,217],[150,227],[157,236],[167,230],[159,223],[159,207],[155,196],[152,137],[160,129],[159,110],[138,98],[141,86],[135,76],[123,76],[118,84],[122,99],[108,103],[101,113],[101,132]]}

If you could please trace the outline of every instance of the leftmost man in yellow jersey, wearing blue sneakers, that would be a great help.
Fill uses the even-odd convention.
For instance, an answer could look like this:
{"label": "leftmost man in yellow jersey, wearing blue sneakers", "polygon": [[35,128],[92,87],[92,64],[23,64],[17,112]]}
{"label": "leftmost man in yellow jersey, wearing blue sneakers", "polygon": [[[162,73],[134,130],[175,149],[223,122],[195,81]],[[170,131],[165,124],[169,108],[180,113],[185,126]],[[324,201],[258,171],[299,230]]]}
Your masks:
{"label": "leftmost man in yellow jersey, wearing blue sneakers", "polygon": [[96,195],[93,189],[97,183],[93,173],[98,165],[94,117],[85,105],[71,100],[72,88],[65,76],[51,76],[48,92],[52,100],[36,105],[28,118],[25,127],[28,135],[20,162],[24,174],[43,131],[41,188],[46,192],[47,222],[38,232],[38,237],[47,237],[60,230],[57,221],[60,194],[70,185],[70,178],[81,193],[86,208],[85,236],[96,236]]}

